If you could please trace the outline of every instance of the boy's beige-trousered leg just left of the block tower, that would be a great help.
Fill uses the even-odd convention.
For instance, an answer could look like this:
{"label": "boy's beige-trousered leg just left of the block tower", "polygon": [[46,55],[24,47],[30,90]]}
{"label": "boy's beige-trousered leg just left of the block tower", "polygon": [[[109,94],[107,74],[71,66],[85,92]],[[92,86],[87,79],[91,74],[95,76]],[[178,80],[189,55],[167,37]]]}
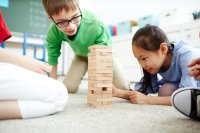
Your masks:
{"label": "boy's beige-trousered leg just left of the block tower", "polygon": [[69,93],[75,93],[78,90],[81,80],[87,72],[87,68],[87,57],[80,57],[75,55],[63,81]]}

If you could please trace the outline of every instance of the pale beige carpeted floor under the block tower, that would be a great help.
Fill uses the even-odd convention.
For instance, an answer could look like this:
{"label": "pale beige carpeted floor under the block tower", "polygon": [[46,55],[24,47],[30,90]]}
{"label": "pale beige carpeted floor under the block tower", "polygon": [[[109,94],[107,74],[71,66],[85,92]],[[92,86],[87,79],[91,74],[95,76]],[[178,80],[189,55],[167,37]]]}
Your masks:
{"label": "pale beige carpeted floor under the block tower", "polygon": [[63,112],[42,118],[0,121],[0,133],[199,133],[200,123],[171,106],[136,105],[113,98],[112,108],[87,106],[87,80],[69,94]]}

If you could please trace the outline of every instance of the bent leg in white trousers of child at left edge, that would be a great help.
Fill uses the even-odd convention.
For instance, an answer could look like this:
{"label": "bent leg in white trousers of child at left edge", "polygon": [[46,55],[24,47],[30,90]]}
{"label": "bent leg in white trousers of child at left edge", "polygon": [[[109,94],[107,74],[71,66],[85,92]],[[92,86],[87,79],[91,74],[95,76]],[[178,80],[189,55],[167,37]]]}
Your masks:
{"label": "bent leg in white trousers of child at left edge", "polygon": [[61,82],[7,63],[0,63],[0,73],[0,104],[10,101],[7,103],[10,106],[11,101],[17,100],[22,118],[63,110],[68,95]]}

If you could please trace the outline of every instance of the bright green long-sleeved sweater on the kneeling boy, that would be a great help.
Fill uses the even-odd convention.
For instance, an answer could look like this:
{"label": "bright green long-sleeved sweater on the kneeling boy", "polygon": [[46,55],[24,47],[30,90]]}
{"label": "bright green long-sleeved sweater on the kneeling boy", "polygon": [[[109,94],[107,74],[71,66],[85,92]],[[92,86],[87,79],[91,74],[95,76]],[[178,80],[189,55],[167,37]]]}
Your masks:
{"label": "bright green long-sleeved sweater on the kneeling boy", "polygon": [[48,63],[50,65],[58,64],[62,41],[68,42],[76,55],[85,57],[87,57],[88,47],[91,45],[111,45],[111,37],[106,26],[89,11],[83,10],[82,15],[79,30],[73,40],[70,40],[65,33],[61,32],[54,23],[50,25],[46,36]]}

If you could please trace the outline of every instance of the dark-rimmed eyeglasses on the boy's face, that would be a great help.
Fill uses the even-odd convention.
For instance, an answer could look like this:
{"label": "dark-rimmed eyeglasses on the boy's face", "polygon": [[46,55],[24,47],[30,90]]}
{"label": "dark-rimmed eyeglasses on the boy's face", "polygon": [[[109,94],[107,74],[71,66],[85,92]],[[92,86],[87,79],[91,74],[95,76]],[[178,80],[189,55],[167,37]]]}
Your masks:
{"label": "dark-rimmed eyeglasses on the boy's face", "polygon": [[[52,17],[51,17],[52,18]],[[64,28],[64,27],[67,27],[69,25],[69,23],[73,23],[73,24],[77,24],[81,21],[81,18],[82,18],[82,13],[80,11],[80,15],[76,16],[76,17],[73,17],[72,19],[70,20],[64,20],[62,22],[58,22],[56,23],[53,18],[52,20],[54,21],[54,23],[59,27],[59,28]]]}

